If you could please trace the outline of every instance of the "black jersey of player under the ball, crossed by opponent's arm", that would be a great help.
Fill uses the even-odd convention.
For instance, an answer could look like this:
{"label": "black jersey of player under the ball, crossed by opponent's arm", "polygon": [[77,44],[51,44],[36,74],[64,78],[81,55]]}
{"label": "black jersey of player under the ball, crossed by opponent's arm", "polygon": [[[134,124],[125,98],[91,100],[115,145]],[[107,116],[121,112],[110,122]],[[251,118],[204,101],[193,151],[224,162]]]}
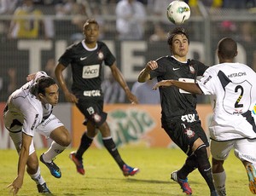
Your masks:
{"label": "black jersey of player under the ball, crossed by opponent's arm", "polygon": [[[156,61],[158,68],[150,72],[150,78],[157,77],[158,81],[173,79],[195,82],[196,77],[202,76],[208,68],[200,61],[188,60],[187,63],[182,63],[171,56],[160,57]],[[159,90],[162,118],[174,118],[189,113],[197,113],[195,110],[196,95],[175,86],[161,87]]]}

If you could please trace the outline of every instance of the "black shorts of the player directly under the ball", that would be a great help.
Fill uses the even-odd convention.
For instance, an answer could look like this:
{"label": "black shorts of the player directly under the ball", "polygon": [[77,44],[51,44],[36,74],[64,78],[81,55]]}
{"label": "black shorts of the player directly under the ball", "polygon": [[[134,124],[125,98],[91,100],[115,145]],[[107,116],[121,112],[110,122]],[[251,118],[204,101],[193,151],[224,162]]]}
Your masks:
{"label": "black shorts of the player directly under the ball", "polygon": [[193,153],[192,147],[198,138],[201,138],[206,146],[209,147],[207,135],[201,127],[201,121],[184,123],[180,119],[175,119],[162,123],[162,127],[166,130],[172,141],[188,156]]}

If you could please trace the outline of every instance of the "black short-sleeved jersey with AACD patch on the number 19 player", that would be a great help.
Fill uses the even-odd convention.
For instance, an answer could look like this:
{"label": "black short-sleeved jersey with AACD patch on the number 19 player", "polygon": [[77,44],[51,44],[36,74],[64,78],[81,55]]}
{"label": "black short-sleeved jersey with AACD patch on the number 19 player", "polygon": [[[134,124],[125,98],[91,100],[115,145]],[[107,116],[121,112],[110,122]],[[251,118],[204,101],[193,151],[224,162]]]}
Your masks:
{"label": "black short-sleeved jersey with AACD patch on the number 19 player", "polygon": [[73,72],[72,90],[76,95],[84,91],[102,94],[102,63],[112,66],[115,57],[103,42],[97,42],[95,49],[86,47],[84,40],[69,46],[61,55],[59,62],[63,66],[71,65]]}

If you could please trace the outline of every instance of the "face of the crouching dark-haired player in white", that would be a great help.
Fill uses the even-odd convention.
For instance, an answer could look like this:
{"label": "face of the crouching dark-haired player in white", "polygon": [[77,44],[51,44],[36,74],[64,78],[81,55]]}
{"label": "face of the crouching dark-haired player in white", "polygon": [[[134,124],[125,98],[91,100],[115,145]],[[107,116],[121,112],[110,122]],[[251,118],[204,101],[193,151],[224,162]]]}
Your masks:
{"label": "face of the crouching dark-haired player in white", "polygon": [[49,103],[55,106],[59,101],[59,87],[57,84],[53,84],[45,89],[45,95],[43,95],[43,103]]}

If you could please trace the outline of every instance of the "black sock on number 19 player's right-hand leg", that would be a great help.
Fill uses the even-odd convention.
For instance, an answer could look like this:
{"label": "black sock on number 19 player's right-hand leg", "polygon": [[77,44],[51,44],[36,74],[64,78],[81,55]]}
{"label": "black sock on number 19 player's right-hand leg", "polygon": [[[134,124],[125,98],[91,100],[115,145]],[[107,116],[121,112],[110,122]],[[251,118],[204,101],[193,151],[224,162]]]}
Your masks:
{"label": "black sock on number 19 player's right-hand leg", "polygon": [[104,146],[108,149],[108,153],[110,153],[113,157],[113,159],[116,161],[117,164],[119,164],[119,168],[122,170],[123,165],[125,164],[124,161],[121,159],[118,149],[115,146],[115,143],[113,142],[112,137],[105,137],[102,138]]}

